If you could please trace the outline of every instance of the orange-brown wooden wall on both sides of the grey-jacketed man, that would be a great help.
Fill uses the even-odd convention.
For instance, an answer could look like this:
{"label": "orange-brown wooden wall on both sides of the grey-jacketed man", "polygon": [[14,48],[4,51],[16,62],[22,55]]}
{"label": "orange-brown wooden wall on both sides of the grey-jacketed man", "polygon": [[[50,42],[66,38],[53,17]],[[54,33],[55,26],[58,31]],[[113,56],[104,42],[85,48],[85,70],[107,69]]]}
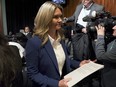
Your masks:
{"label": "orange-brown wooden wall on both sides of the grey-jacketed man", "polygon": [[[101,4],[105,7],[106,11],[109,11],[112,16],[116,16],[116,0],[94,0],[96,3]],[[81,2],[81,0],[67,0],[66,6],[64,6],[64,16],[71,16],[76,6]]]}

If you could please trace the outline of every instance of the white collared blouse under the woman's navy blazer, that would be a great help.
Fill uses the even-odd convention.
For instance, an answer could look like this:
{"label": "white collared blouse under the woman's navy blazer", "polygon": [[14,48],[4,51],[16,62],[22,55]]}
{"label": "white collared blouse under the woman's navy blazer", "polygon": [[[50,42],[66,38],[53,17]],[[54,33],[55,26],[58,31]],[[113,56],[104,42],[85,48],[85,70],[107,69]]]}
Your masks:
{"label": "white collared blouse under the woman's navy blazer", "polygon": [[59,67],[59,72],[60,72],[60,76],[62,75],[62,68],[64,66],[64,62],[65,62],[65,53],[64,50],[62,48],[62,45],[60,44],[60,37],[57,40],[54,40],[50,35],[49,39],[50,42],[53,46],[55,55],[56,55],[56,59],[57,59],[57,63],[58,63],[58,67]]}

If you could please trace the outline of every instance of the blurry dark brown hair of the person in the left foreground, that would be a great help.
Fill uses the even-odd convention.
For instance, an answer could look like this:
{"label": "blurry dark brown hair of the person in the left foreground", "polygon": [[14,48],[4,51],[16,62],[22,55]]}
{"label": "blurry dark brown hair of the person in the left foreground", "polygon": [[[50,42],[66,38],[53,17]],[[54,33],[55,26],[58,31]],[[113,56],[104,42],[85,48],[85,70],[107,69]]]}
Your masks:
{"label": "blurry dark brown hair of the person in the left foreground", "polygon": [[13,80],[18,70],[21,70],[20,57],[16,55],[6,38],[0,34],[0,85],[2,87],[12,87]]}

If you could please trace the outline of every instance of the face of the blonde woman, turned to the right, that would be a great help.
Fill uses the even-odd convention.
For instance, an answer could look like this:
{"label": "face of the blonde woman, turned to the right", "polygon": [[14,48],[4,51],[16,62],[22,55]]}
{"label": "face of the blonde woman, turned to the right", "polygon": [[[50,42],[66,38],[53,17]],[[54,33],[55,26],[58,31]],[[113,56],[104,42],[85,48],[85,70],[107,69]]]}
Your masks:
{"label": "face of the blonde woman, turned to the right", "polygon": [[62,26],[62,12],[59,8],[57,8],[54,12],[50,29],[59,30],[61,29],[61,26]]}

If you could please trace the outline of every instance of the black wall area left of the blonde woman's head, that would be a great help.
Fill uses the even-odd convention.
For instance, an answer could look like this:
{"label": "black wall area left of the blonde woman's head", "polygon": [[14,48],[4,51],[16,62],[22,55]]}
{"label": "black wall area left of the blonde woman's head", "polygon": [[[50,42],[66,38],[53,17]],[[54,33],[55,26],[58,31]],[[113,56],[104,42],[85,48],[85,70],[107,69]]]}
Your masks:
{"label": "black wall area left of the blonde woman's head", "polygon": [[33,29],[36,13],[45,0],[6,0],[8,32],[19,32],[25,26]]}

